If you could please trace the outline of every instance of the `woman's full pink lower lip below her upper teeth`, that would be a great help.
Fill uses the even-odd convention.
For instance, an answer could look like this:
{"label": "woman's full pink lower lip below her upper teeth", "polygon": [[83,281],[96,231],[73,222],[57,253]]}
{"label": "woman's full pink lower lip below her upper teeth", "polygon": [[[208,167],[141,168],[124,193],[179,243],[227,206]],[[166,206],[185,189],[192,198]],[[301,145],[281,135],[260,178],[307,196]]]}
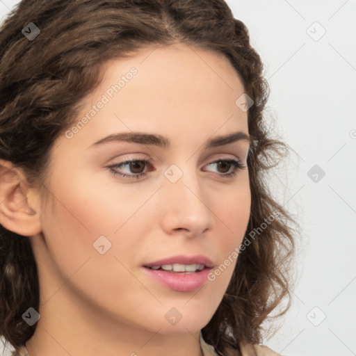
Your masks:
{"label": "woman's full pink lower lip below her upper teeth", "polygon": [[174,291],[191,292],[202,287],[208,280],[211,268],[204,268],[195,273],[170,273],[165,270],[152,270],[143,267],[145,273]]}

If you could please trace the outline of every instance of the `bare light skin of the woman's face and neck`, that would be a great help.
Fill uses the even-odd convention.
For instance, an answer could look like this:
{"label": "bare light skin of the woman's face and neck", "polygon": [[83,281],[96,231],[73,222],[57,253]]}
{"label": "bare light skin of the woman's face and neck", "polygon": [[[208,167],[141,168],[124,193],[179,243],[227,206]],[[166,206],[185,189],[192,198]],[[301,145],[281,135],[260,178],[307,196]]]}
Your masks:
{"label": "bare light skin of the woman's face and neck", "polygon": [[[204,144],[235,131],[248,134],[247,113],[235,104],[244,88],[223,56],[186,44],[154,48],[106,63],[104,80],[83,102],[78,120],[131,67],[138,72],[72,138],[58,138],[48,199],[22,185],[17,193],[28,205],[14,205],[22,213],[13,223],[1,218],[30,236],[38,263],[41,317],[26,342],[31,356],[202,355],[199,332],[216,312],[236,259],[193,292],[172,291],[141,266],[176,254],[205,254],[220,266],[241,244],[250,216],[248,169],[224,178],[234,166],[210,163],[246,163],[249,143],[208,150]],[[160,134],[171,145],[90,147],[131,131]],[[140,179],[107,168],[129,159],[151,159],[153,168],[116,168],[147,172]],[[163,174],[172,164],[183,172],[175,183]],[[93,243],[102,235],[111,248],[99,254]],[[182,315],[175,325],[165,318],[173,307]]]}

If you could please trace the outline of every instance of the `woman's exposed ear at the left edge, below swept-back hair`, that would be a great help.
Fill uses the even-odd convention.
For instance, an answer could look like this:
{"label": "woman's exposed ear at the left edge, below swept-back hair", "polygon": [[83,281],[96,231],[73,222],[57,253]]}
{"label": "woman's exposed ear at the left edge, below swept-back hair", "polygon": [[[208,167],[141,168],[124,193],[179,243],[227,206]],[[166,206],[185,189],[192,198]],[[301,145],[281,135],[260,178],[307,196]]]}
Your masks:
{"label": "woman's exposed ear at the left edge, below swept-back hair", "polygon": [[22,236],[39,234],[40,201],[22,170],[0,159],[0,224]]}

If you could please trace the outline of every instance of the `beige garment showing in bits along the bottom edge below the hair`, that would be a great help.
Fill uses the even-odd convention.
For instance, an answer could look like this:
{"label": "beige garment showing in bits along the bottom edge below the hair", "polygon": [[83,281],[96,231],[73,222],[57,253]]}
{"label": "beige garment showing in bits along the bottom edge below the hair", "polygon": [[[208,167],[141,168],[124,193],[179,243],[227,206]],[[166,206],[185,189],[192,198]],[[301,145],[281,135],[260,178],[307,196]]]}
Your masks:
{"label": "beige garment showing in bits along the bottom edge below the hair", "polygon": [[[202,348],[204,356],[218,356],[213,346],[204,341],[202,332],[200,332],[200,347]],[[283,356],[263,345],[241,345],[241,351],[243,356]],[[30,356],[30,354],[27,352],[26,348],[22,346],[19,352],[15,353],[14,351],[12,356]]]}

